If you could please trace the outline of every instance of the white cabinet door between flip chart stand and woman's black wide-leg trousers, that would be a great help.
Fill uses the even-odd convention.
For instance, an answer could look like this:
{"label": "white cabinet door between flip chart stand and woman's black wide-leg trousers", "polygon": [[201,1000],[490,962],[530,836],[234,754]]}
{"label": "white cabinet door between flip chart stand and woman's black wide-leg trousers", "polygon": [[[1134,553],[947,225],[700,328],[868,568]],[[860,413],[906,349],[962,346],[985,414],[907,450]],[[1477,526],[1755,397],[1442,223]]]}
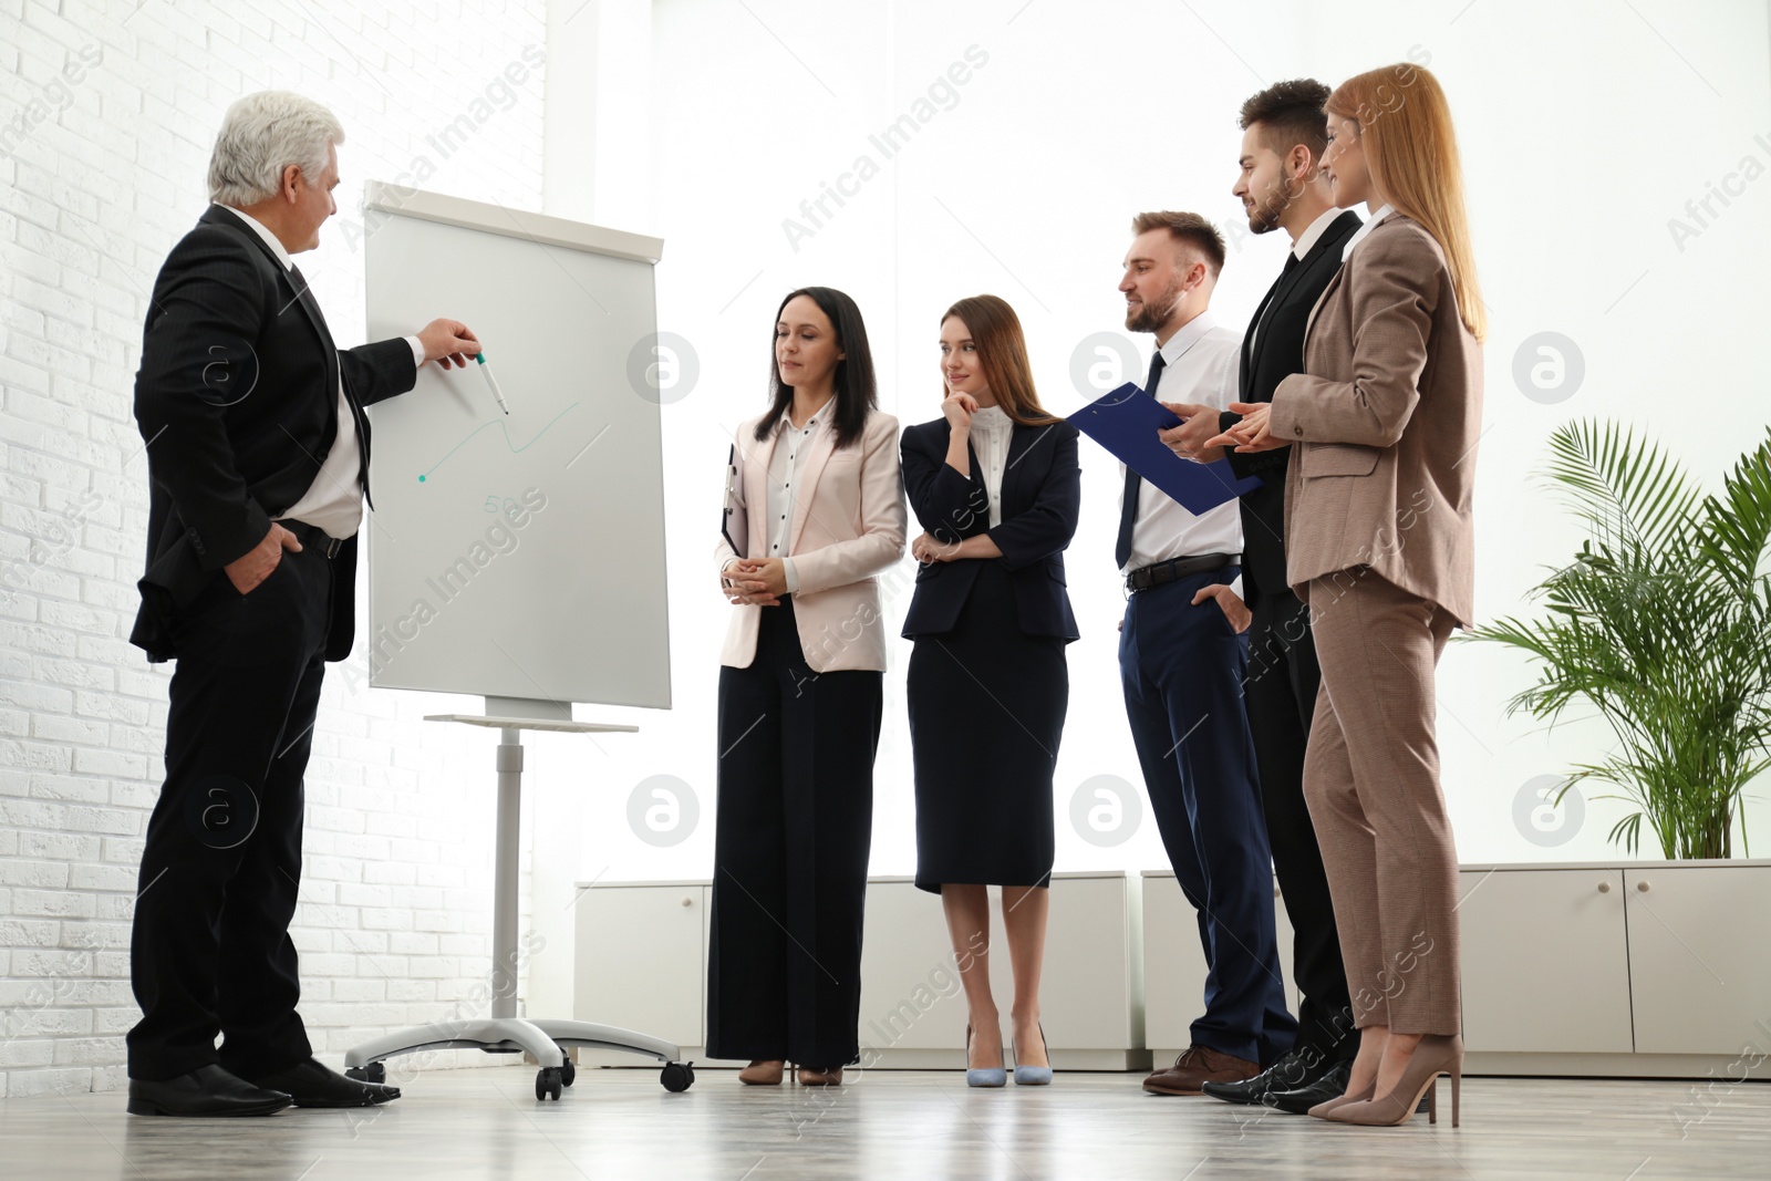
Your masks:
{"label": "white cabinet door between flip chart stand and woman's black wide-leg trousers", "polygon": [[577,899],[574,1018],[705,1043],[705,885],[599,885]]}

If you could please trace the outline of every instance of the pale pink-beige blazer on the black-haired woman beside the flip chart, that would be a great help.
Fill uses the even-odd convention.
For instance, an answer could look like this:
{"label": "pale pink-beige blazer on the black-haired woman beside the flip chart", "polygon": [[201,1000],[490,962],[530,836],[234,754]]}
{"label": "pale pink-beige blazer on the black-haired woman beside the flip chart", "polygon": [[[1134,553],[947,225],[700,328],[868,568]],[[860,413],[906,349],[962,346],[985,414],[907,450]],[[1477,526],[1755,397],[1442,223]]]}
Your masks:
{"label": "pale pink-beige blazer on the black-haired woman beside the flip chart", "polygon": [[[733,439],[733,501],[744,508],[749,554],[769,551],[767,512],[769,457],[777,432],[756,441],[758,414],[739,427]],[[806,453],[802,485],[788,522],[788,556],[799,574],[793,620],[799,645],[813,673],[841,669],[886,671],[886,621],[880,614],[880,570],[903,558],[903,480],[898,476],[898,420],[873,411],[857,443],[836,450],[836,434],[822,430]],[[733,558],[721,536],[715,565]],[[749,668],[756,659],[756,627],[763,611],[779,607],[730,607],[731,625],[721,664]]]}

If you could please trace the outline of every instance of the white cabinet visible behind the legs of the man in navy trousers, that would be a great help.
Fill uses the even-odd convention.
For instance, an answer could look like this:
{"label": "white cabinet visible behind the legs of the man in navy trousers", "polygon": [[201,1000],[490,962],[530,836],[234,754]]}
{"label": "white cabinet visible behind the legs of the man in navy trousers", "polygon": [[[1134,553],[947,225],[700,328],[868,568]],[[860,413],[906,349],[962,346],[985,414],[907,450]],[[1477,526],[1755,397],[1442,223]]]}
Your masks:
{"label": "white cabinet visible behind the legs of the man in navy trousers", "polygon": [[[1158,1066],[1192,1045],[1192,1023],[1204,1013],[1206,956],[1199,942],[1199,912],[1181,894],[1171,869],[1142,875],[1144,940],[1144,1045]],[[1273,885],[1273,926],[1279,938],[1279,974],[1286,1007],[1298,1013],[1298,986],[1291,979],[1291,919]],[[1167,1055],[1167,1057],[1164,1057]]]}

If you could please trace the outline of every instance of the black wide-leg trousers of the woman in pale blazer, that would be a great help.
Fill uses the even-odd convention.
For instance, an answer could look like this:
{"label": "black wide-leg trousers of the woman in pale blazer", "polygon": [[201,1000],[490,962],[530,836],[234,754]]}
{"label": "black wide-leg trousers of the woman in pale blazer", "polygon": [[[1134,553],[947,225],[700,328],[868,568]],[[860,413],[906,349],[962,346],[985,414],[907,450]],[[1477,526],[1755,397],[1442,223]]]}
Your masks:
{"label": "black wide-leg trousers of the woman in pale blazer", "polygon": [[884,675],[813,673],[792,595],[756,659],[719,669],[707,1054],[859,1059],[861,917]]}

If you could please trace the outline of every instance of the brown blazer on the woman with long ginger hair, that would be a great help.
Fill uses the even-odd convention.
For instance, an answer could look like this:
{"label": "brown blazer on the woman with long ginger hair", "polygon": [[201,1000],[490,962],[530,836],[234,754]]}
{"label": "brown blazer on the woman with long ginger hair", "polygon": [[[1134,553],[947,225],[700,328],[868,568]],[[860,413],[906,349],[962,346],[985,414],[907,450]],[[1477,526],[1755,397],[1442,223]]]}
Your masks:
{"label": "brown blazer on the woman with long ginger hair", "polygon": [[1458,317],[1445,251],[1392,212],[1316,303],[1303,372],[1279,382],[1272,432],[1286,475],[1286,581],[1369,565],[1475,618],[1470,489],[1482,432],[1482,345]]}

